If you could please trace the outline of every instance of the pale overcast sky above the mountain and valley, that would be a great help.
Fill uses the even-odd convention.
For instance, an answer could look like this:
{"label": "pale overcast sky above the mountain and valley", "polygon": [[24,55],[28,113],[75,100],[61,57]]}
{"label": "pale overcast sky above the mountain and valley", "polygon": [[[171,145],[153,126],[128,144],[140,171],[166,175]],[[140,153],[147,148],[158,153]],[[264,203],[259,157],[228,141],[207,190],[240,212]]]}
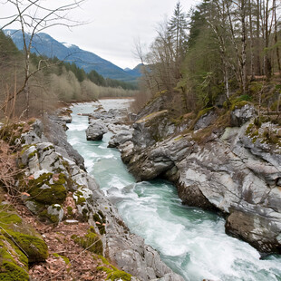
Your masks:
{"label": "pale overcast sky above the mountain and valley", "polygon": [[[60,0],[45,0],[58,4]],[[45,32],[59,42],[76,44],[81,49],[96,53],[121,68],[136,66],[134,41],[149,46],[156,36],[157,24],[165,16],[170,18],[178,0],[88,0],[71,15],[88,22],[72,30],[63,26]],[[1,1],[0,3],[5,3]],[[199,0],[181,0],[187,13]],[[0,17],[10,15],[7,5],[0,6]]]}

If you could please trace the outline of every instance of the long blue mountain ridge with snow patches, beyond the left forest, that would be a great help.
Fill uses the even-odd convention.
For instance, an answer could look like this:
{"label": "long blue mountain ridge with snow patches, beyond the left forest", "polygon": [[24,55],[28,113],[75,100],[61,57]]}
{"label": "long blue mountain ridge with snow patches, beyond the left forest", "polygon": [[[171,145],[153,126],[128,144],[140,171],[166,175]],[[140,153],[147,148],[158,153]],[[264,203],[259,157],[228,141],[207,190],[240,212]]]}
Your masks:
{"label": "long blue mountain ridge with snow patches, beyond the left forest", "polygon": [[[5,34],[10,36],[18,49],[23,50],[23,35],[21,31],[6,29]],[[30,34],[25,34],[26,41],[30,41]],[[121,80],[124,82],[136,82],[140,73],[131,70],[126,72],[117,65],[102,59],[95,53],[84,51],[74,44],[61,43],[53,39],[49,34],[35,34],[32,43],[32,53],[42,54],[47,57],[57,57],[59,60],[76,63],[86,73],[92,70],[105,78]]]}

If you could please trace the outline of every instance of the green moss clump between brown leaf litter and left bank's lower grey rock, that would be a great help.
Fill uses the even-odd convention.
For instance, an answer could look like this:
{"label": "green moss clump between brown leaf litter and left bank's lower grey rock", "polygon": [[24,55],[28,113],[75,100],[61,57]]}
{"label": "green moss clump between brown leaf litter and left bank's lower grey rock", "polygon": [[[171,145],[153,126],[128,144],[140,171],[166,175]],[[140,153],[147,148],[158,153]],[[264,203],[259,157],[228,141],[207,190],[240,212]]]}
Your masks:
{"label": "green moss clump between brown leaf litter and left bank's lower grey rock", "polygon": [[94,254],[102,255],[103,247],[101,238],[90,228],[84,237],[72,236],[73,241],[79,246],[88,249]]}

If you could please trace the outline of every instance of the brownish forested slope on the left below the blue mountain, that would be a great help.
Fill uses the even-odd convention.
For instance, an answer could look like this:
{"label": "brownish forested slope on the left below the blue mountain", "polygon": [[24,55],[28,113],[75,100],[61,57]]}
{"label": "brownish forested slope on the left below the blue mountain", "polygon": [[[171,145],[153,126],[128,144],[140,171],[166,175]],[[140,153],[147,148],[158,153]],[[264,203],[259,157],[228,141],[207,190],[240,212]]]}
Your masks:
{"label": "brownish forested slope on the left below the blue mountain", "polygon": [[12,39],[0,31],[1,118],[41,116],[63,102],[131,97],[137,92],[131,83],[104,78],[95,71],[85,73],[75,63],[35,53],[29,53],[28,57],[26,63],[26,53],[19,51]]}

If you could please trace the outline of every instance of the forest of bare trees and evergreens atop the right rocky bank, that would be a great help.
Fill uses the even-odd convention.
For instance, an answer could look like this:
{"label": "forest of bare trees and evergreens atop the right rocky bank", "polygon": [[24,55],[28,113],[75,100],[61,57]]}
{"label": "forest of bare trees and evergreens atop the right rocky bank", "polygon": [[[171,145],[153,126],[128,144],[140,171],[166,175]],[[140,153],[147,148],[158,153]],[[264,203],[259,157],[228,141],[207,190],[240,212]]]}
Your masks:
{"label": "forest of bare trees and evergreens atop the right rocky bank", "polygon": [[188,112],[237,99],[279,111],[280,2],[204,0],[189,12],[178,2],[157,32],[148,51],[136,46],[139,103],[168,91]]}

